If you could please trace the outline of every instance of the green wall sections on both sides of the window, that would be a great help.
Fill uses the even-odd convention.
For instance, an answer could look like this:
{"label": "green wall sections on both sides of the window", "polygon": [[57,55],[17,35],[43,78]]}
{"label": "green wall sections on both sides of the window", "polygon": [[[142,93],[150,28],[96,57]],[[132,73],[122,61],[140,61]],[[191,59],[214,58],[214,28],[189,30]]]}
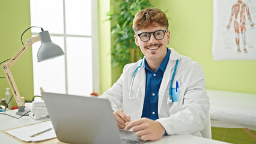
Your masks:
{"label": "green wall sections on both sides of the window", "polygon": [[[106,19],[106,12],[110,10],[109,0],[98,0],[99,15],[99,55],[100,55],[100,91],[101,93],[111,87],[111,37],[110,22]],[[22,47],[20,35],[30,23],[29,0],[1,0],[0,1],[0,62],[11,58]],[[23,35],[23,41],[31,37],[31,31]],[[32,75],[32,49],[29,49],[11,68],[13,77],[19,88],[20,95],[26,100],[32,100],[33,75]],[[4,77],[1,68],[0,77]],[[0,79],[0,98],[4,97],[5,88],[9,87],[6,79]],[[13,101],[13,104],[15,102]]]}

